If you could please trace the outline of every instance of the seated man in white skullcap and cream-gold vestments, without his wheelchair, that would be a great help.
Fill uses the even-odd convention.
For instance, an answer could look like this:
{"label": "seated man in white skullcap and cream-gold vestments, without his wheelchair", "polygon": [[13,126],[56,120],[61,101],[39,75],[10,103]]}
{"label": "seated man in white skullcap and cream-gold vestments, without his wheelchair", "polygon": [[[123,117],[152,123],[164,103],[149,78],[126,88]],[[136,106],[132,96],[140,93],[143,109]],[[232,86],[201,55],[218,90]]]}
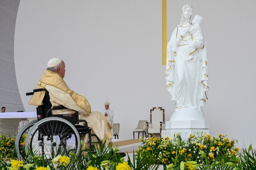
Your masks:
{"label": "seated man in white skullcap and cream-gold vestments, without his wheelchair", "polygon": [[[110,141],[112,137],[111,124],[100,111],[91,111],[91,106],[87,99],[72,91],[64,81],[65,62],[59,58],[52,58],[47,64],[47,70],[41,75],[36,88],[45,88],[49,92],[52,106],[65,106],[68,109],[54,110],[52,114],[70,114],[78,111],[79,119],[86,120],[88,126],[92,128],[92,134],[96,134],[102,141]],[[45,91],[34,93],[30,105],[42,105]],[[84,144],[89,140],[84,137]]]}

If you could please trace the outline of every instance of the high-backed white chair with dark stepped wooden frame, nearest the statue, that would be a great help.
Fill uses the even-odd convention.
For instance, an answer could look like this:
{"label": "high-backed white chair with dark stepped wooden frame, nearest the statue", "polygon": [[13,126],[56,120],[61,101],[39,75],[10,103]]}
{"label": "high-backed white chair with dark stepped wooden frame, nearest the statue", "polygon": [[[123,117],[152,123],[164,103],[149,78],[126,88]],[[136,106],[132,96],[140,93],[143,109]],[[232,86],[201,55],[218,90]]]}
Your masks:
{"label": "high-backed white chair with dark stepped wooden frame, nearest the statue", "polygon": [[164,109],[160,107],[150,109],[150,122],[146,122],[147,137],[151,136],[151,134],[160,135],[161,137],[162,124],[165,124]]}

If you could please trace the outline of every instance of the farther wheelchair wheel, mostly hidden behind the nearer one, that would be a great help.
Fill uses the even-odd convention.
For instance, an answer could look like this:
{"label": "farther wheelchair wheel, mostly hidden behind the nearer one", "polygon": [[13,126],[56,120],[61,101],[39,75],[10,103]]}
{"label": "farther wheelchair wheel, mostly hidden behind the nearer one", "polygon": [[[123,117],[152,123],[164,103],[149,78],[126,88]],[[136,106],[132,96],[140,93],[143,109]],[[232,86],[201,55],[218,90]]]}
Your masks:
{"label": "farther wheelchair wheel, mostly hidden behind the nearer one", "polygon": [[25,139],[27,138],[27,133],[30,128],[37,122],[37,120],[32,120],[28,122],[25,126],[21,128],[18,132],[15,140],[15,149],[19,160],[26,159],[27,155],[25,153]]}

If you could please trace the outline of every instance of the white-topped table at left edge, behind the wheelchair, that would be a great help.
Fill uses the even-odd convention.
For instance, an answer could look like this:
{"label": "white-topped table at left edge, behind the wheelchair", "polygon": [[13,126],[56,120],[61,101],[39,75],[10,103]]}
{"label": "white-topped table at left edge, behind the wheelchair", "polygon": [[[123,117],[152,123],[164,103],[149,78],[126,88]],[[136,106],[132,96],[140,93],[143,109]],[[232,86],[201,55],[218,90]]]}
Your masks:
{"label": "white-topped table at left edge, behind the wheelchair", "polygon": [[0,113],[0,132],[17,135],[20,121],[33,119],[37,119],[36,111]]}

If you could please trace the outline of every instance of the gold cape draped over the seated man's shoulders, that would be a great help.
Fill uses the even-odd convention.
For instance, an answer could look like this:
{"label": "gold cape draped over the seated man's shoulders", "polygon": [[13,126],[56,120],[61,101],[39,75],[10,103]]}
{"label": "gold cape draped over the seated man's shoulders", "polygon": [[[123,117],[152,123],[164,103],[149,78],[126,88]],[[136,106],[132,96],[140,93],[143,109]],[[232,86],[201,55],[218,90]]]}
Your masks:
{"label": "gold cape draped over the seated man's shoulders", "polygon": [[[49,70],[44,71],[41,75],[39,82],[37,83],[36,89],[45,88],[46,85],[56,87],[62,90],[63,92],[69,93],[75,101],[76,105],[78,105],[81,109],[85,110],[88,114],[91,113],[91,106],[87,99],[72,91],[59,74]],[[30,99],[29,104],[34,106],[42,105],[44,95],[45,91],[34,93],[32,98]]]}

